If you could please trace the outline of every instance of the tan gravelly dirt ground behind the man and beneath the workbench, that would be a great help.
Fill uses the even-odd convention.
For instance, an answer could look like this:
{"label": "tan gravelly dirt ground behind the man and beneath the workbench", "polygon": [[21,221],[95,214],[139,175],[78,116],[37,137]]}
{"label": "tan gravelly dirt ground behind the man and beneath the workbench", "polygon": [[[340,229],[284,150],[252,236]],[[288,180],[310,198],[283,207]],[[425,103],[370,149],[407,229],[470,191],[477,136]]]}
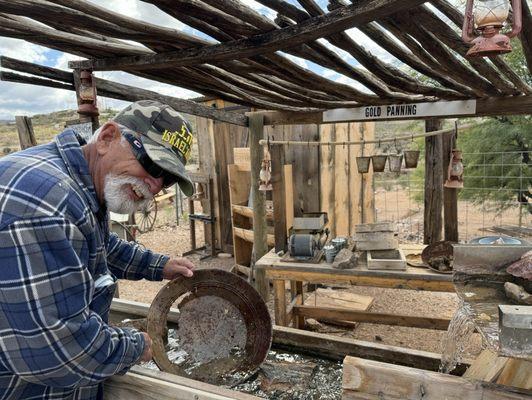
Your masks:
{"label": "tan gravelly dirt ground behind the man and beneath the workbench", "polygon": [[[198,246],[202,244],[202,224],[197,225]],[[180,256],[190,249],[190,233],[187,221],[177,225],[173,208],[169,205],[159,212],[155,229],[140,234],[137,240],[149,249]],[[223,268],[229,270],[233,258],[208,258],[200,260],[199,255],[190,256],[197,268]],[[151,303],[164,282],[120,281],[120,297],[123,299]],[[414,316],[451,318],[459,304],[458,297],[452,293],[423,292],[400,289],[381,289],[373,287],[350,287],[347,290],[374,297],[370,310],[383,313],[398,313]],[[312,304],[312,296],[309,299]],[[268,303],[273,314],[273,301]],[[431,352],[442,351],[443,331],[394,327],[386,325],[361,323],[354,329],[324,325],[321,332],[342,337],[367,340],[381,344],[401,346]],[[482,342],[478,334],[474,334],[466,346],[464,357],[474,358],[481,350]]]}

